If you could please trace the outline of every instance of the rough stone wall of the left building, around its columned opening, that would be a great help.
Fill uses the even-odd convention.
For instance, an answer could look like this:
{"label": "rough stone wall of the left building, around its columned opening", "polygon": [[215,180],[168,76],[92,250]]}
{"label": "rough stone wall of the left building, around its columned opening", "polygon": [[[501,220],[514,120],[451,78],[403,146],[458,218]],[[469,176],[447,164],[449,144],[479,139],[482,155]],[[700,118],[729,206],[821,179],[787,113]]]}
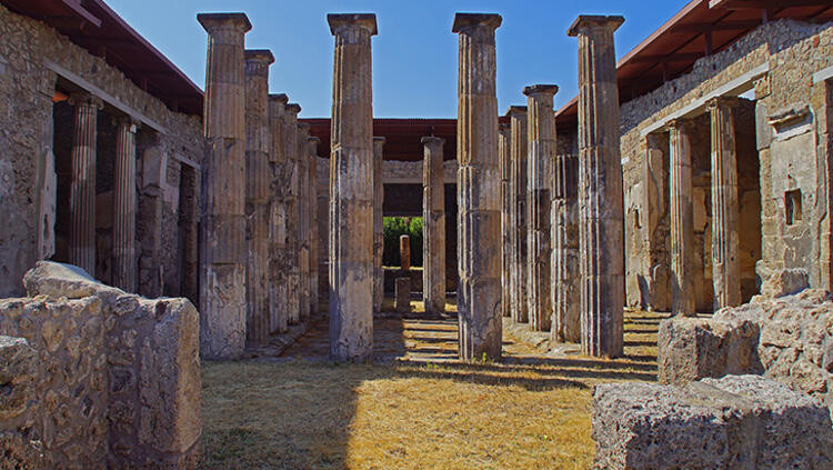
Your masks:
{"label": "rough stone wall of the left building, around its columned opening", "polygon": [[[97,278],[107,280],[110,276],[108,238],[112,230],[104,214],[109,210],[107,201],[112,199],[108,197],[111,184],[107,180],[112,168],[107,162],[112,162],[114,146],[107,144],[107,136],[112,128],[110,118],[121,113],[112,106],[112,100],[154,123],[143,124],[138,134],[140,173],[144,150],[150,147],[164,160],[162,168],[167,168],[169,161],[199,166],[203,159],[204,139],[199,117],[170,110],[102,58],[90,54],[42,22],[0,6],[0,220],[4,221],[0,227],[0,298],[23,293],[21,278],[37,260],[53,256],[53,259],[67,259],[61,257],[60,249],[66,240],[56,240],[52,227],[56,218],[60,219],[61,212],[69,210],[68,199],[62,199],[64,194],[60,191],[60,188],[68,191],[68,176],[56,174],[54,169],[67,167],[64,160],[70,150],[67,142],[71,143],[72,138],[66,132],[72,129],[72,114],[53,118],[53,109],[60,103],[53,104],[52,98],[57,90],[67,93],[84,89],[87,84],[79,81],[91,83],[108,94],[102,97],[104,109],[98,119],[102,180],[97,184],[101,201],[97,213],[102,214],[102,223],[98,228],[101,272],[94,273]],[[56,180],[59,190],[50,192]],[[169,281],[188,277],[187,272],[180,272],[178,261],[182,258],[177,236],[178,191],[170,190],[177,188],[179,181],[172,181],[168,184],[171,188],[167,188],[160,184],[164,179],[138,180],[141,189],[137,220],[141,254],[138,257],[145,271],[154,270],[153,276],[147,272],[142,276],[140,291],[153,297],[179,294],[179,282],[163,287],[159,279],[165,279],[165,274],[160,276],[158,271],[158,267],[164,266]],[[154,204],[159,208],[148,208]]]}

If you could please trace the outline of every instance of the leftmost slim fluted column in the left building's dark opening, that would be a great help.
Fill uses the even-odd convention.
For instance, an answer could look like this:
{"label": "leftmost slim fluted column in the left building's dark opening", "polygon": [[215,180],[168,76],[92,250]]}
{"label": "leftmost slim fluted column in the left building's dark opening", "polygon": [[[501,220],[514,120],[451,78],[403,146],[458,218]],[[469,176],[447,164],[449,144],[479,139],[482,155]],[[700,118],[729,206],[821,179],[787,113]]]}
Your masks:
{"label": "leftmost slim fluted column in the left building's dark opening", "polygon": [[96,277],[96,126],[103,103],[89,93],[72,94],[69,103],[76,107],[69,262]]}

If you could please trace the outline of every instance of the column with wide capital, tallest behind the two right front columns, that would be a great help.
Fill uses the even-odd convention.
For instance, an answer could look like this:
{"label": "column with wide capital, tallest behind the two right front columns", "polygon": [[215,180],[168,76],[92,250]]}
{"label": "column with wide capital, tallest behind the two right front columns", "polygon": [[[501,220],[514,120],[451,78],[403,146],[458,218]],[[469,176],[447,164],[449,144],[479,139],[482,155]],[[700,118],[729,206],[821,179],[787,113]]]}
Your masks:
{"label": "column with wide capital, tallest behind the two right front columns", "polygon": [[552,100],[559,87],[535,84],[523,89],[529,109],[529,161],[526,177],[526,244],[529,319],[534,331],[549,331],[552,323],[552,249],[550,209],[552,161],[556,152],[555,112]]}

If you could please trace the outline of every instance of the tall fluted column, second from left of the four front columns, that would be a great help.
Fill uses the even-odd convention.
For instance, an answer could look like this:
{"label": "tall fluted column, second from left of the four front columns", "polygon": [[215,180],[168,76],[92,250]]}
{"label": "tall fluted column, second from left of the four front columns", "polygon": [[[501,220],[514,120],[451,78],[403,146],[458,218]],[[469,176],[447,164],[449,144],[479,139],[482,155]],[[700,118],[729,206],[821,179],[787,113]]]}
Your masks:
{"label": "tall fluted column, second from left of the four front columns", "polygon": [[330,358],[373,353],[373,93],[375,14],[328,14],[335,37],[330,157]]}

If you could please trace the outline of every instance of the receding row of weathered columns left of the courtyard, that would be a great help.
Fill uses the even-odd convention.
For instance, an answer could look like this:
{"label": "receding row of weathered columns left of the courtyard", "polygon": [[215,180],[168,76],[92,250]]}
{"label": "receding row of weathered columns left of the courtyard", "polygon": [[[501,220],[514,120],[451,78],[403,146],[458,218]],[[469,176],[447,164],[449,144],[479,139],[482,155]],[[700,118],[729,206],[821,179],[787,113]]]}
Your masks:
{"label": "receding row of weathered columns left of the courtyard", "polygon": [[269,94],[274,58],[245,50],[245,14],[207,13],[198,21],[209,34],[201,356],[233,359],[318,309],[311,184],[318,142],[298,123],[300,106]]}

